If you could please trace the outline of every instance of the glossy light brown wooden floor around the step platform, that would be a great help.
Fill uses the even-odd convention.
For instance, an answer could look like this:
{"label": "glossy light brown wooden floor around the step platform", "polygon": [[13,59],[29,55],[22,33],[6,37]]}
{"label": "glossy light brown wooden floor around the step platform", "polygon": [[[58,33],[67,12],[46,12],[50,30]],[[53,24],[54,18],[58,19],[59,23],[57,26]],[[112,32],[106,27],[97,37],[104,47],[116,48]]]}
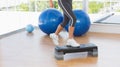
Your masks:
{"label": "glossy light brown wooden floor around the step platform", "polygon": [[[65,44],[66,35],[61,32],[60,45]],[[56,60],[52,40],[36,29],[0,39],[0,67],[120,67],[120,34],[89,32],[75,40],[96,44],[98,57]]]}

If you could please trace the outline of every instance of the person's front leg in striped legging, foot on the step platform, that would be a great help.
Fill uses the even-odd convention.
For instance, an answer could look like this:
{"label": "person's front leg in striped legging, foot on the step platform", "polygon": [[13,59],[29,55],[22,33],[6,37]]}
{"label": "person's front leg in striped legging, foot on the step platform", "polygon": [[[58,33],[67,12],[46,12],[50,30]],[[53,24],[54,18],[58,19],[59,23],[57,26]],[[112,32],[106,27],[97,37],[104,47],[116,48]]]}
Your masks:
{"label": "person's front leg in striped legging, foot on the step platform", "polygon": [[66,45],[70,45],[73,47],[78,47],[79,44],[74,40],[74,26],[76,23],[76,17],[72,11],[72,0],[59,0],[59,3],[61,4],[63,12],[66,14],[66,16],[70,20],[69,24],[69,38],[66,43]]}

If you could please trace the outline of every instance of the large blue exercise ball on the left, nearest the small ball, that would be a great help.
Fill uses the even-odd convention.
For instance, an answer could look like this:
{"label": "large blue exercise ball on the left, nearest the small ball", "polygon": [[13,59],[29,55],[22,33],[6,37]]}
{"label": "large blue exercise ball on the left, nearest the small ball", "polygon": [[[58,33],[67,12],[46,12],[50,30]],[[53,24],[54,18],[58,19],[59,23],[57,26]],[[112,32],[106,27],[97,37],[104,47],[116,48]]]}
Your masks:
{"label": "large blue exercise ball on the left, nearest the small ball", "polygon": [[46,34],[54,33],[57,26],[63,21],[63,15],[55,8],[49,8],[39,16],[39,28]]}

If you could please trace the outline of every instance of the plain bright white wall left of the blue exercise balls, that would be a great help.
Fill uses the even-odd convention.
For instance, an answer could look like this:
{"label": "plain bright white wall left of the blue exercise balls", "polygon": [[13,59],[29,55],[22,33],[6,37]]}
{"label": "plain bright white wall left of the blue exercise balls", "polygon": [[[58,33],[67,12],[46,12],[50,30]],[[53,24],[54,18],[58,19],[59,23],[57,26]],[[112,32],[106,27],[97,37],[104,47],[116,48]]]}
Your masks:
{"label": "plain bright white wall left of the blue exercise balls", "polygon": [[28,24],[38,25],[40,12],[0,11],[0,35],[24,28]]}

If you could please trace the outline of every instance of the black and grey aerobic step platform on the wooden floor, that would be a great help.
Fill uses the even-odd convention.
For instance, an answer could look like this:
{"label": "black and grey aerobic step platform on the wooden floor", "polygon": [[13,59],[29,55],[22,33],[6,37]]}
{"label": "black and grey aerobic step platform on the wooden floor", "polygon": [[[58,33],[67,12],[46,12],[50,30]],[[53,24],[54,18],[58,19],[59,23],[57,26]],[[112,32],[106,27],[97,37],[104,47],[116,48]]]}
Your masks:
{"label": "black and grey aerobic step platform on the wooden floor", "polygon": [[68,46],[56,46],[55,47],[55,58],[58,60],[64,59],[64,55],[67,53],[76,52],[87,52],[88,56],[97,57],[98,47],[95,44],[81,44],[79,47],[68,47]]}

